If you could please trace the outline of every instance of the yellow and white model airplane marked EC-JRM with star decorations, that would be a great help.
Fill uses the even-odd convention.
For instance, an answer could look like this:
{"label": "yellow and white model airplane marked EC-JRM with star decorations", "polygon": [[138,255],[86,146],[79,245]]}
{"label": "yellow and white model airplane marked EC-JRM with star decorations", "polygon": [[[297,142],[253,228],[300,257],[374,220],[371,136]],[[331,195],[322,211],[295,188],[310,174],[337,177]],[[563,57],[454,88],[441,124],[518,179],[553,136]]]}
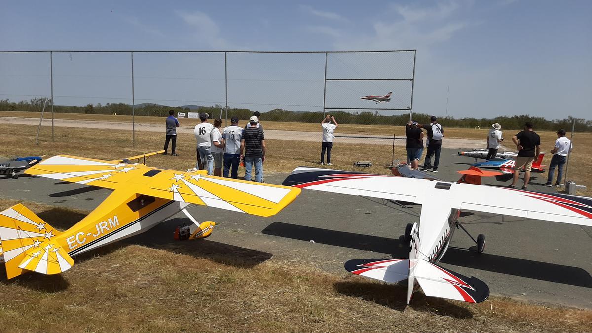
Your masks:
{"label": "yellow and white model airplane marked EC-JRM with star decorations", "polygon": [[65,232],[53,229],[22,204],[0,212],[0,259],[8,278],[26,271],[57,274],[72,256],[144,232],[184,212],[199,228],[190,239],[210,235],[214,222],[198,223],[194,204],[271,216],[300,194],[300,188],[59,155],[27,169],[30,175],[114,190],[95,210]]}

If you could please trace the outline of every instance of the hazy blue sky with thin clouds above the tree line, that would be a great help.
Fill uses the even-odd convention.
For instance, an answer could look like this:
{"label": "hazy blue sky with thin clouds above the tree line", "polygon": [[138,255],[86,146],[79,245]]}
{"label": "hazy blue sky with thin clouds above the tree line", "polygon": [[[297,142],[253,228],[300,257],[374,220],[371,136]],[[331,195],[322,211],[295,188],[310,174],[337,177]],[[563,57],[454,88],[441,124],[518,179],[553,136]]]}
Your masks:
{"label": "hazy blue sky with thin clouds above the tree line", "polygon": [[[457,118],[592,119],[591,1],[56,0],[2,7],[0,50],[414,49],[416,112],[444,116],[448,97],[448,115]],[[342,66],[343,75],[408,69],[398,58],[350,60],[330,58],[329,67]],[[129,62],[124,53],[54,54],[56,104],[129,103]],[[136,103],[224,101],[220,55],[139,54],[134,65]],[[229,104],[318,111],[323,65],[323,55],[229,55]],[[48,68],[43,54],[0,54],[0,98],[49,94]],[[391,105],[407,104],[408,87],[389,82],[328,85],[327,103],[373,107],[359,104],[359,95],[397,89]]]}

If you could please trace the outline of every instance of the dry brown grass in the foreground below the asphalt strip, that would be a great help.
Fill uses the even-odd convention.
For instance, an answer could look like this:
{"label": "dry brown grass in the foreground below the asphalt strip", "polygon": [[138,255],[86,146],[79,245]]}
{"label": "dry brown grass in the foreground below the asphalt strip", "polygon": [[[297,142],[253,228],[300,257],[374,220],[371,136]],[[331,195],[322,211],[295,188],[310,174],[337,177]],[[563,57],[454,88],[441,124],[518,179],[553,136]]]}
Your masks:
{"label": "dry brown grass in the foreground below the asphalt strip", "polygon": [[[17,203],[0,200],[0,209]],[[25,203],[63,228],[83,212]],[[54,220],[55,219],[55,220]],[[136,238],[137,239],[137,238]],[[426,298],[349,274],[288,262],[254,262],[215,242],[120,242],[75,258],[59,276],[5,280],[5,332],[589,332],[592,312],[492,297],[479,305]],[[244,251],[250,251],[244,249]]]}

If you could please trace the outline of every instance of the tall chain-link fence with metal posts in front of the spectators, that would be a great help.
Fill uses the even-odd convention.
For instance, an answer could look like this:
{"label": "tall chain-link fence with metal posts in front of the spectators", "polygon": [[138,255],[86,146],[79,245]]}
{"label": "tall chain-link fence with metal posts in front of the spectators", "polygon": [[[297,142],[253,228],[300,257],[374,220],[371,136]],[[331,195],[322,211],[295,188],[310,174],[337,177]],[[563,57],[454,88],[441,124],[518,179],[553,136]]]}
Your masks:
{"label": "tall chain-link fence with metal posts in front of the spectators", "polygon": [[309,141],[330,114],[344,125],[337,140],[391,145],[413,110],[415,59],[415,50],[0,52],[0,111],[41,111],[52,98],[52,117],[131,116],[130,130],[170,109],[226,124],[257,111],[266,137]]}

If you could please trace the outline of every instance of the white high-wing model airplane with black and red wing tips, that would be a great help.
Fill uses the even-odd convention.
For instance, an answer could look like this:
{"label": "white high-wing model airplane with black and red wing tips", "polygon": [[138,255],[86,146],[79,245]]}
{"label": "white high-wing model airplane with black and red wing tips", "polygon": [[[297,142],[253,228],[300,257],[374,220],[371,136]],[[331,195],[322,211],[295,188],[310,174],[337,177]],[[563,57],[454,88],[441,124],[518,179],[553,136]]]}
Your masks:
{"label": "white high-wing model airplane with black and red wing tips", "polygon": [[[346,270],[353,274],[389,283],[408,279],[407,303],[418,285],[427,296],[469,303],[483,302],[489,296],[489,287],[478,278],[437,265],[454,230],[466,232],[458,222],[461,210],[592,226],[592,198],[587,197],[308,167],[294,169],[282,184],[422,204],[419,224],[408,224],[405,230],[404,240],[411,241],[409,258],[345,263]],[[477,251],[482,252],[485,236],[472,239]]]}

